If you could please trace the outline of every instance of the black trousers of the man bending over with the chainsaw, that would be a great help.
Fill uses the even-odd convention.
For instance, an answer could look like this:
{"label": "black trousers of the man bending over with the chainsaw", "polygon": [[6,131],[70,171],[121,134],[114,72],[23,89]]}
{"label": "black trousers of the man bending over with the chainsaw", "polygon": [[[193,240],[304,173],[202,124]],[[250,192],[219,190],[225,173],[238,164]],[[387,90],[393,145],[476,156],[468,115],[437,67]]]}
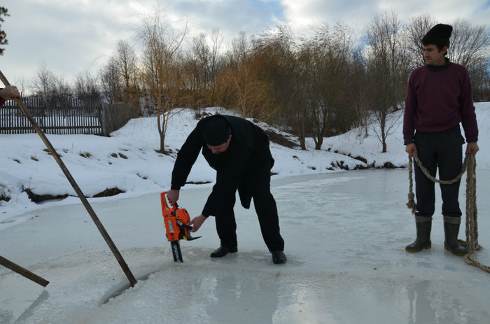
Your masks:
{"label": "black trousers of the man bending over with the chainsaw", "polygon": [[[251,197],[255,212],[258,216],[260,231],[265,245],[272,251],[283,251],[284,240],[279,230],[279,216],[277,206],[272,193],[270,192],[270,167],[265,165],[251,173],[246,173],[242,177],[240,186],[240,197],[242,204],[248,208],[247,202],[243,197]],[[216,230],[221,241],[221,246],[237,246],[237,223],[235,221],[236,192],[230,192],[228,197],[223,197],[224,204],[220,207],[216,215]]]}

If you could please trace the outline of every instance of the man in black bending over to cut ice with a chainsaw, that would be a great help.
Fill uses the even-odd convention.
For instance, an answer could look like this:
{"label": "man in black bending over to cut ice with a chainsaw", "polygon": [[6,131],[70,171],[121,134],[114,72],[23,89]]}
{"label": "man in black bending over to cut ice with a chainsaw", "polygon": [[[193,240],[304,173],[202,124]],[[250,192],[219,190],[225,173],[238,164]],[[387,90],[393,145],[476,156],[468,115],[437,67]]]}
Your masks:
{"label": "man in black bending over to cut ice with a chainsaw", "polygon": [[216,183],[201,215],[193,218],[190,225],[194,225],[191,231],[196,232],[208,216],[215,216],[221,246],[211,253],[211,258],[237,252],[233,207],[238,190],[241,204],[246,209],[253,198],[262,237],[272,253],[272,261],[285,263],[276,202],[270,192],[270,170],[274,159],[265,132],[248,120],[230,115],[212,115],[197,122],[174,164],[172,186],[167,193],[170,204],[179,199],[179,190],[186,183],[200,150],[216,170]]}

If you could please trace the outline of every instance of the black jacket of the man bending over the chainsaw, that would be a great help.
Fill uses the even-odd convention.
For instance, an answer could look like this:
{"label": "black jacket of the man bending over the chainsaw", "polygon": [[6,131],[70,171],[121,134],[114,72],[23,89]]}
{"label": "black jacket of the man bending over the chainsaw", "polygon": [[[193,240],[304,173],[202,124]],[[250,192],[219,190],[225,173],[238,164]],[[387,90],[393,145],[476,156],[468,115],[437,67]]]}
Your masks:
{"label": "black jacket of the man bending over the chainsaw", "polygon": [[[274,164],[274,159],[269,150],[269,139],[260,127],[243,118],[230,115],[222,116],[228,120],[231,127],[232,139],[228,150],[220,155],[214,155],[207,148],[202,136],[204,118],[197,122],[197,126],[189,134],[177,154],[174,171],[172,171],[171,188],[180,190],[186,184],[190,169],[202,150],[202,155],[204,155],[209,166],[217,171],[216,183],[202,211],[202,215],[206,217],[215,216],[218,213],[223,197],[228,197],[230,192],[236,192],[245,174],[260,167],[271,169]],[[241,186],[241,189],[243,188]],[[245,196],[248,196],[248,202],[244,202]],[[242,204],[248,208],[250,195],[240,192],[240,197]]]}

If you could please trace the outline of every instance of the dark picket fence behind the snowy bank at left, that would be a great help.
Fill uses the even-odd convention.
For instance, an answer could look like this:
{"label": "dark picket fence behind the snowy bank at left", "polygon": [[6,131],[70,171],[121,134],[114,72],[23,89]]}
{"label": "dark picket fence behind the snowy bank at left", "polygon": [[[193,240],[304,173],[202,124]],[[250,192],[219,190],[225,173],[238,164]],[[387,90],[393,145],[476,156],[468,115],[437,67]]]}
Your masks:
{"label": "dark picket fence behind the snowy bank at left", "polygon": [[[62,104],[45,98],[24,98],[25,106],[46,134],[102,135],[102,104],[69,99]],[[29,120],[15,101],[7,101],[0,108],[0,134],[34,133]]]}

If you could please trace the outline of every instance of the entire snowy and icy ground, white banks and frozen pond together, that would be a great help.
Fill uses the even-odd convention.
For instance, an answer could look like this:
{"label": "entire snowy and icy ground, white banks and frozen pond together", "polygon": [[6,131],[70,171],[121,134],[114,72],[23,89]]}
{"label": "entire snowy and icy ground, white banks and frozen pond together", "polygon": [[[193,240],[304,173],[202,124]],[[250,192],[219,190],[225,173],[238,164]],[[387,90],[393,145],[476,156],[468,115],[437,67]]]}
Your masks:
{"label": "entire snowy and icy ground, white banks and frozen pond together", "polygon": [[[490,104],[476,107],[479,244],[488,248]],[[323,150],[311,142],[307,151],[272,144],[286,265],[272,264],[255,212],[239,204],[238,253],[209,258],[219,245],[210,219],[196,233],[202,238],[181,242],[178,264],[159,197],[169,187],[174,155],[155,153],[155,122],[131,120],[110,138],[48,135],[87,197],[124,191],[89,201],[138,279],[132,288],[78,198],[34,204],[22,191],[74,195],[41,139],[0,135],[0,195],[10,197],[0,205],[0,255],[50,281],[43,288],[0,267],[0,323],[490,323],[489,274],[444,251],[440,202],[433,248],[405,252],[415,234],[405,206],[407,169],[329,170],[405,166],[400,127],[388,137],[388,153],[380,153],[372,131],[365,139],[356,131],[325,139]],[[170,151],[195,123],[190,111],[172,118]],[[365,157],[367,165],[335,151]],[[211,181],[183,188],[179,203],[193,217],[214,172],[200,157],[188,181]],[[489,265],[488,250],[477,260]]]}

